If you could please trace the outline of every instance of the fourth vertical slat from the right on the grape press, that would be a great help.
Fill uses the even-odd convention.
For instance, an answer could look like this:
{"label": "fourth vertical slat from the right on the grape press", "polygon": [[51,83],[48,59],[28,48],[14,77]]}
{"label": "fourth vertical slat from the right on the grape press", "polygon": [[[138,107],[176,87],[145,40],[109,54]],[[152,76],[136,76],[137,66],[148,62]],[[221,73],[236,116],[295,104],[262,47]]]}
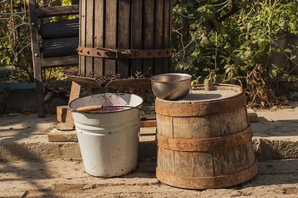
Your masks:
{"label": "fourth vertical slat from the right on the grape press", "polygon": [[[132,49],[142,49],[142,0],[132,0]],[[131,60],[132,76],[142,72],[142,59]]]}

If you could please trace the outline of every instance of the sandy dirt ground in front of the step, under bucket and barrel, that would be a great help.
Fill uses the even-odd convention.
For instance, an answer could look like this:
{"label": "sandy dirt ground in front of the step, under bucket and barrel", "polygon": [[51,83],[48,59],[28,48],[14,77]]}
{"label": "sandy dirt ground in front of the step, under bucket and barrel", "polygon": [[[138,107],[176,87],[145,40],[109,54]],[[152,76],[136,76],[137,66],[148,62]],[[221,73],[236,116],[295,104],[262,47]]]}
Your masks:
{"label": "sandy dirt ground in front of the step, under bucket and barrel", "polygon": [[111,179],[89,176],[72,159],[1,162],[1,198],[298,198],[298,160],[258,162],[258,175],[226,189],[184,190],[155,178],[155,159],[139,162],[134,173]]}

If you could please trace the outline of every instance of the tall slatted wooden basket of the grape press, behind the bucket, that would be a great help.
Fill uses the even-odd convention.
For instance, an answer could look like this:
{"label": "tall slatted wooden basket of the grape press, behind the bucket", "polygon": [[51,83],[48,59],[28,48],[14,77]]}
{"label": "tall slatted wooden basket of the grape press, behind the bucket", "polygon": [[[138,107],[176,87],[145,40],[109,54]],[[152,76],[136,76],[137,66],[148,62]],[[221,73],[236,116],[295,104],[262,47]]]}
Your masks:
{"label": "tall slatted wooden basket of the grape press, behind the bucket", "polygon": [[[126,59],[96,48],[170,49],[171,14],[172,0],[80,0],[80,73],[120,73],[124,77],[147,71],[151,75],[169,73],[170,50],[167,57],[155,58],[153,52],[146,52],[152,58]],[[159,53],[156,51],[162,56]],[[141,51],[133,55],[140,56]]]}

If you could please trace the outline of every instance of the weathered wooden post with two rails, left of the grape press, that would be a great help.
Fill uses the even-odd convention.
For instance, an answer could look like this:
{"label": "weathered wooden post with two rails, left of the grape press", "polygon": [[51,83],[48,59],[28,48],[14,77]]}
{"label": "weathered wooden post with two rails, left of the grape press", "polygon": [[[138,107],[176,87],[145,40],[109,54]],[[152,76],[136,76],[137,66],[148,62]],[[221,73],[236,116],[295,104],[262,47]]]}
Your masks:
{"label": "weathered wooden post with two rails, left of the grape press", "polygon": [[44,91],[42,84],[42,69],[53,67],[77,66],[78,55],[42,58],[38,18],[67,16],[79,14],[79,5],[38,7],[36,0],[29,0],[32,57],[35,88],[37,91],[38,117],[45,117]]}

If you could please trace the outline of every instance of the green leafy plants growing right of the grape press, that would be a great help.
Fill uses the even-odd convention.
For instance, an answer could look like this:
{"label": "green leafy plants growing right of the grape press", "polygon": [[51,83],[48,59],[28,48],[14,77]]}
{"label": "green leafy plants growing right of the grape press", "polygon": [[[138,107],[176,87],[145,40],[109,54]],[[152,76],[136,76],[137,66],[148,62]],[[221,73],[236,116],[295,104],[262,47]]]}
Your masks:
{"label": "green leafy plants growing right of the grape press", "polygon": [[[174,29],[184,33],[184,44],[180,34],[174,32],[172,36],[176,51],[183,51],[172,59],[176,70],[217,83],[242,85],[248,95],[260,84],[267,96],[260,100],[265,102],[262,106],[279,103],[270,86],[278,76],[289,78],[290,66],[273,64],[272,55],[289,53],[290,60],[296,58],[291,53],[297,47],[282,49],[275,41],[285,33],[298,33],[297,0],[233,0],[221,9],[212,0],[174,3]],[[236,11],[226,18],[230,10]],[[251,78],[256,70],[258,77]],[[262,98],[261,94],[256,97]]]}

